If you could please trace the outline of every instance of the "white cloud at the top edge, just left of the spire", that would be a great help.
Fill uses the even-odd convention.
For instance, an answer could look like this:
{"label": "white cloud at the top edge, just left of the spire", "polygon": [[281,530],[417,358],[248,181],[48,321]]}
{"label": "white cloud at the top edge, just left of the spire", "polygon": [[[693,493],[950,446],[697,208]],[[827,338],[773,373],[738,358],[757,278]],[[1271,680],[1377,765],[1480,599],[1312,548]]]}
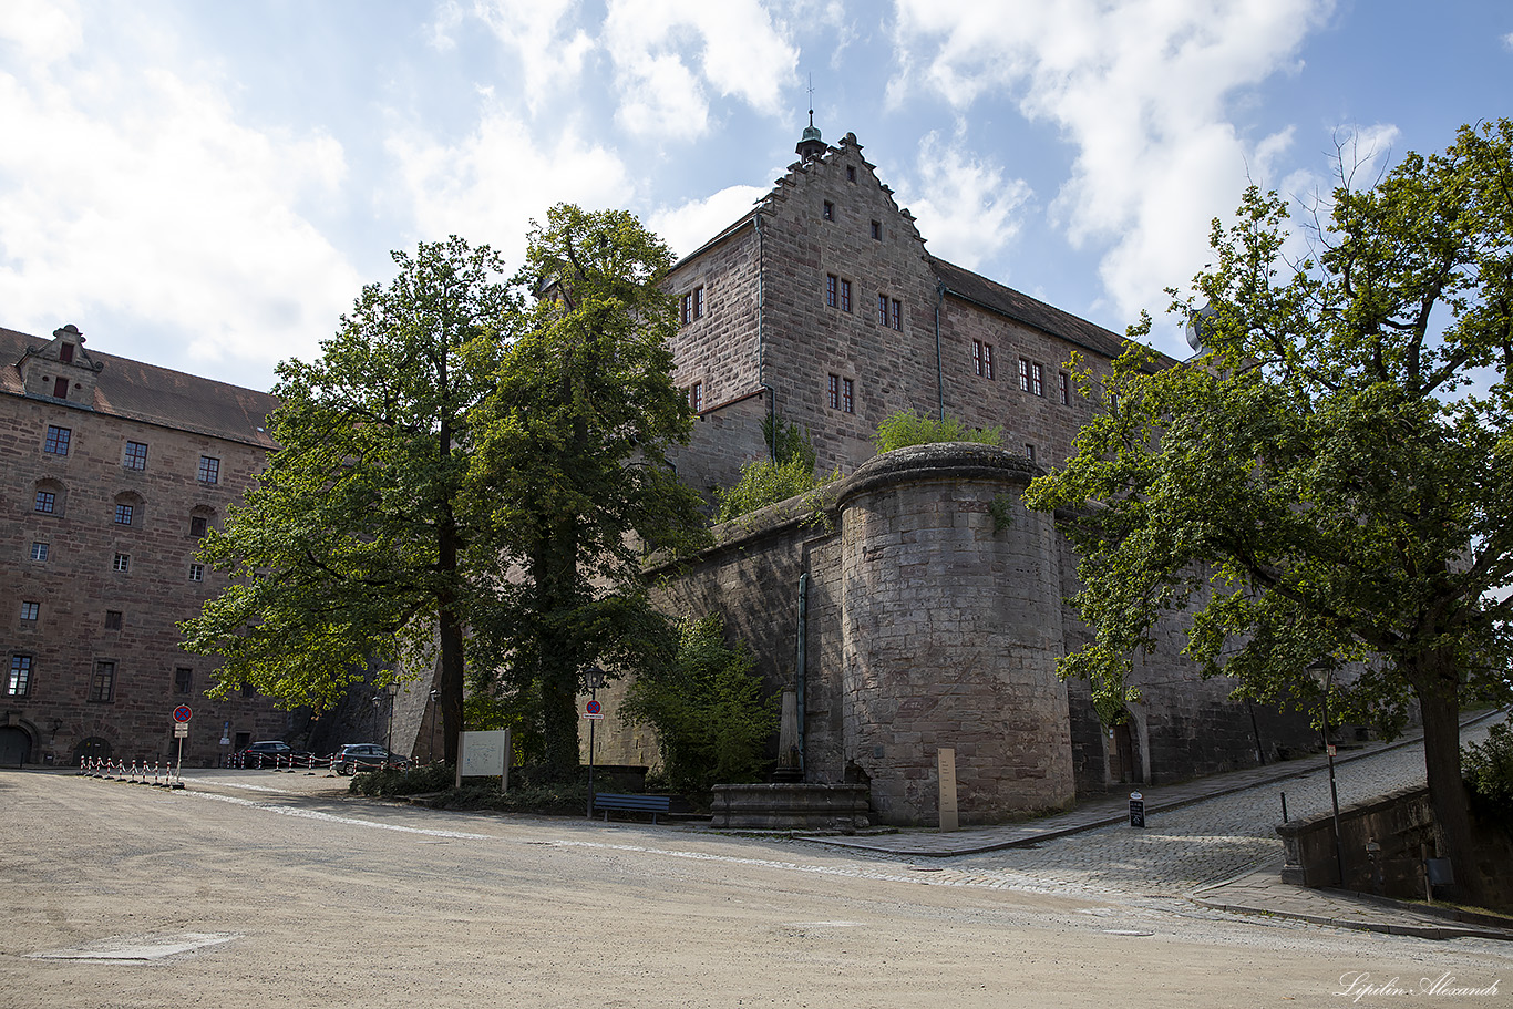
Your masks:
{"label": "white cloud at the top edge, just left of the spire", "polygon": [[616,120],[635,135],[702,135],[707,89],[775,115],[799,61],[756,0],[610,0],[602,44],[622,94]]}

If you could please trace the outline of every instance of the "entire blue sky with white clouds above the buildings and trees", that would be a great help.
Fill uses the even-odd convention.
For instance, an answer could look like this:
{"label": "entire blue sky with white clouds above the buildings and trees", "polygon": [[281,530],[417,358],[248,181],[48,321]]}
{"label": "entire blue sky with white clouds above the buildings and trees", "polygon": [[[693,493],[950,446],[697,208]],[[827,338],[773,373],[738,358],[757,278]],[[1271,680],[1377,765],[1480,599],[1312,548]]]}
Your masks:
{"label": "entire blue sky with white clouds above the buildings and trees", "polygon": [[[937,256],[1123,331],[1248,180],[1507,115],[1505,0],[27,0],[0,11],[0,325],[266,389],[387,251],[557,201],[690,251],[814,83]],[[1162,348],[1183,352],[1174,327]]]}

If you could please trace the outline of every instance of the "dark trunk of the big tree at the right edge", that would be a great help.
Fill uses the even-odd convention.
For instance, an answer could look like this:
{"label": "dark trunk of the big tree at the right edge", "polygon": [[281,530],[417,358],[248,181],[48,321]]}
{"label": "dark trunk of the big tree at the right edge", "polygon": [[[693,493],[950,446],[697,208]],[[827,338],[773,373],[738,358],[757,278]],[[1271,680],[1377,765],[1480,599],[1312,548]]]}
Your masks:
{"label": "dark trunk of the big tree at the right edge", "polygon": [[1471,811],[1460,779],[1460,682],[1454,660],[1431,655],[1412,670],[1424,716],[1424,768],[1434,811],[1439,855],[1451,859],[1456,886],[1468,903],[1481,903],[1486,888],[1472,856]]}

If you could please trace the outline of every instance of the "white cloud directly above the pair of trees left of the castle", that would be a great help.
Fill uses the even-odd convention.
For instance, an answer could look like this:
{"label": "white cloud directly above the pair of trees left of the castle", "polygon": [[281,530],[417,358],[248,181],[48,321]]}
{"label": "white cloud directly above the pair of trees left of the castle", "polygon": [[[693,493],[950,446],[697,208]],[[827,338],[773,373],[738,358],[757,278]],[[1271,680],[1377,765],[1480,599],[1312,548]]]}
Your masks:
{"label": "white cloud directly above the pair of trees left of the castle", "polygon": [[[539,138],[548,138],[540,147]],[[461,234],[487,242],[517,263],[531,218],[555,203],[586,209],[623,207],[634,185],[619,156],[584,139],[569,123],[540,133],[501,107],[489,107],[477,129],[455,144],[421,130],[387,141],[421,241]]]}

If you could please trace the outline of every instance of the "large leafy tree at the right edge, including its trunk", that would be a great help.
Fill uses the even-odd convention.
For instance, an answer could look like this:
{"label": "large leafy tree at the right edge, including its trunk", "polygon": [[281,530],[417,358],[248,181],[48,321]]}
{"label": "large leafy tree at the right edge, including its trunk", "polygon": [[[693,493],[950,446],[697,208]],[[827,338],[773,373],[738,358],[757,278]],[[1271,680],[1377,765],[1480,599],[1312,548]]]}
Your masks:
{"label": "large leafy tree at the right edge, including its trunk", "polygon": [[1322,688],[1331,713],[1389,728],[1416,700],[1440,841],[1472,893],[1459,713],[1508,697],[1513,655],[1510,154],[1501,120],[1369,188],[1342,171],[1297,262],[1286,206],[1248,191],[1195,278],[1207,355],[1153,371],[1127,352],[1077,455],[1027,493],[1082,516],[1094,640],[1062,669],[1104,717],[1173,610],[1191,611],[1188,654],[1248,696]]}

